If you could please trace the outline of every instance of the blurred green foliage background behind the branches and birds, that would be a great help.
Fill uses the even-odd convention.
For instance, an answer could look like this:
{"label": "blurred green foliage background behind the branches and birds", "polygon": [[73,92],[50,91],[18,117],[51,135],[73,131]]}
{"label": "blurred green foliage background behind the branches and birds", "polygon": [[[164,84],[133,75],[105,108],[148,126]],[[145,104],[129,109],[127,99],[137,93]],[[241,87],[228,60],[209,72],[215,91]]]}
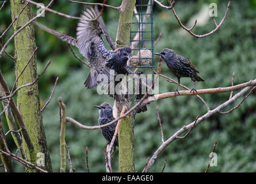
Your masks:
{"label": "blurred green foliage background behind the branches and birds", "polygon": [[[90,2],[90,1],[88,1]],[[92,1],[91,1],[92,2]],[[99,1],[100,2],[100,1]],[[119,6],[119,1],[109,0],[113,6]],[[200,10],[202,4],[216,2],[218,7],[217,22],[223,17],[228,1],[177,1],[175,10],[182,22],[186,24],[189,18]],[[167,2],[165,2],[167,3]],[[1,3],[2,4],[2,3]],[[167,5],[167,4],[166,4]],[[36,7],[35,13],[37,11]],[[72,16],[79,16],[82,6],[58,1],[52,5],[52,9]],[[154,7],[154,35],[155,39],[160,32],[163,36],[156,45],[155,52],[168,47],[175,52],[189,57],[197,66],[202,78],[206,82],[196,83],[196,89],[213,87],[225,87],[231,85],[232,72],[235,72],[235,85],[256,78],[256,3],[255,1],[231,1],[230,11],[226,21],[211,36],[196,39],[188,34],[180,34],[181,28],[173,16],[171,10]],[[118,24],[116,10],[106,8],[104,11],[106,26],[114,40]],[[6,3],[0,11],[0,28],[6,29],[10,24],[10,5]],[[215,28],[213,18],[204,26],[196,26],[193,32],[203,34]],[[59,17],[55,14],[45,13],[40,22],[54,28],[59,32],[65,32],[75,37],[77,21]],[[58,97],[63,97],[67,106],[67,116],[86,125],[97,125],[98,110],[93,105],[99,105],[106,101],[113,104],[113,99],[107,95],[98,95],[96,90],[87,90],[83,86],[89,68],[82,65],[74,58],[68,45],[58,40],[54,35],[48,34],[39,28],[36,30],[37,66],[41,72],[48,60],[51,66],[47,73],[39,81],[42,106],[51,94],[52,87],[57,76],[59,83],[56,87],[54,98],[43,112],[44,128],[47,142],[51,151],[51,160],[54,171],[59,171],[59,106]],[[12,34],[10,31],[5,36],[5,41]],[[75,52],[81,56],[77,49]],[[13,44],[6,49],[13,55]],[[82,57],[82,56],[81,56]],[[156,66],[158,57],[155,57]],[[14,75],[13,61],[7,56],[1,57],[1,71],[12,86]],[[151,74],[151,70],[143,69]],[[162,73],[174,78],[162,64]],[[182,78],[181,82],[191,87],[190,79]],[[159,79],[159,92],[164,93],[174,90],[176,85]],[[235,91],[237,93],[237,91]],[[226,101],[230,93],[206,94],[202,98],[211,109]],[[242,97],[239,99],[242,100]],[[228,110],[238,104],[228,106]],[[192,122],[197,115],[202,116],[207,110],[196,97],[177,97],[163,99],[148,106],[146,113],[136,115],[135,120],[135,169],[142,171],[146,161],[161,145],[161,131],[156,119],[156,106],[162,119],[165,139],[173,135],[183,125]],[[2,107],[1,107],[2,109]],[[152,172],[161,172],[165,157],[167,163],[165,172],[203,172],[209,162],[209,154],[212,151],[215,140],[218,141],[215,150],[217,154],[217,167],[210,167],[211,172],[255,172],[256,171],[256,113],[255,94],[251,95],[239,109],[226,115],[215,114],[196,128],[184,140],[175,140],[171,143],[152,166]],[[2,121],[7,131],[5,117]],[[9,147],[16,152],[12,137],[7,136]],[[94,131],[82,130],[68,123],[66,142],[70,146],[72,164],[77,172],[86,172],[85,149],[89,150],[89,167],[91,172],[105,172],[104,149],[106,141],[99,129]],[[17,171],[24,171],[23,166],[16,164]],[[117,171],[118,154],[113,156],[113,171]],[[2,168],[0,168],[2,171]],[[67,163],[68,171],[68,163]]]}

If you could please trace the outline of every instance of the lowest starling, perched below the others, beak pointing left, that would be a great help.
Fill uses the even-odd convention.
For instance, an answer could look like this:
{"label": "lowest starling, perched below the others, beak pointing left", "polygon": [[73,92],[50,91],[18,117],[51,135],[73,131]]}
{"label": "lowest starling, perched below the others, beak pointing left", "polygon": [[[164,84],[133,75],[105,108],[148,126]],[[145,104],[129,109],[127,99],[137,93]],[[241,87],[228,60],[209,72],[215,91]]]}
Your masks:
{"label": "lowest starling, perched below the others, beak pointing left", "polygon": [[[98,118],[98,124],[99,125],[105,125],[108,122],[111,122],[114,120],[113,113],[112,113],[112,106],[106,102],[101,104],[100,106],[94,105],[96,108],[99,108],[100,116]],[[117,122],[114,124],[101,128],[101,133],[105,137],[106,141],[108,141],[108,144],[111,143],[111,140],[114,136],[114,131],[116,130]],[[118,146],[118,137],[116,137],[116,140],[114,140],[113,144],[113,151],[116,150],[116,146]]]}

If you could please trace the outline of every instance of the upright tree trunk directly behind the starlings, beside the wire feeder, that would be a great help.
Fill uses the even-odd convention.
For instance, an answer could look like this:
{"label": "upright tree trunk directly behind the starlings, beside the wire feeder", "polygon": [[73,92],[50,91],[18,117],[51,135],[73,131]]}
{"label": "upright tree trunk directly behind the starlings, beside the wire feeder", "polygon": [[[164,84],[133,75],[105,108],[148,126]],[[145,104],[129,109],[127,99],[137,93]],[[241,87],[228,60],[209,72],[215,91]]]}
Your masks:
{"label": "upright tree trunk directly behind the starlings, beside the wire feeder", "polygon": [[[123,0],[121,4],[119,26],[117,28],[116,36],[117,48],[129,46],[131,22],[135,2],[136,0]],[[127,108],[129,109],[131,108],[131,104],[131,98],[128,97],[125,103],[119,104],[119,108],[122,108],[123,105],[127,105]],[[123,118],[123,120],[121,120],[119,127],[119,172],[121,173],[131,173],[135,171],[133,126],[134,117],[132,113],[129,114],[129,118]]]}

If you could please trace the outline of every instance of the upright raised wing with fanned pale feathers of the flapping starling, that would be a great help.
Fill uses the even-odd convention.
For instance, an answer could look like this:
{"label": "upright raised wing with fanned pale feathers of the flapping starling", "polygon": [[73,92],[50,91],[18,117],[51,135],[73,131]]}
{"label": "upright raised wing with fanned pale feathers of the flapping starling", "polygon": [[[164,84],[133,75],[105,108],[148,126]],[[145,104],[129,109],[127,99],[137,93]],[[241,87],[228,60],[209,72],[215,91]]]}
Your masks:
{"label": "upright raised wing with fanned pale feathers of the flapping starling", "polygon": [[81,18],[77,26],[77,40],[79,52],[87,57],[91,54],[91,44],[98,42],[101,39],[100,34],[102,30],[97,20],[97,14],[94,9],[90,7],[82,12]]}

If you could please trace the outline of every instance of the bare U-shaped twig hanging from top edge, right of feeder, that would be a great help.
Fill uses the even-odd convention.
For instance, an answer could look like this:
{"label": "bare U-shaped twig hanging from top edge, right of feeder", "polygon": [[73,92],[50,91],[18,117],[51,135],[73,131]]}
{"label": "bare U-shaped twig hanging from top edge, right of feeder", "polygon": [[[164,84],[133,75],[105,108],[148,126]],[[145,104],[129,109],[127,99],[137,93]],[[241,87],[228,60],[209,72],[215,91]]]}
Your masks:
{"label": "bare U-shaped twig hanging from top edge, right of feeder", "polygon": [[[170,5],[170,6],[173,6],[173,3],[171,2],[171,0],[168,0],[168,2],[169,2],[169,5]],[[227,14],[228,14],[228,10],[229,10],[229,9],[230,9],[230,1],[228,2],[226,13],[225,13],[224,17],[222,18],[222,20],[220,21],[220,24],[217,25],[217,24],[216,24],[216,21],[215,21],[216,28],[213,29],[211,32],[206,33],[206,34],[202,34],[202,35],[195,34],[195,33],[193,33],[193,32],[191,31],[191,30],[194,28],[194,26],[196,25],[196,22],[194,23],[194,25],[192,26],[192,28],[190,28],[190,29],[189,29],[189,28],[186,28],[186,26],[184,26],[184,25],[181,23],[181,20],[179,20],[179,17],[178,17],[178,15],[177,15],[177,13],[175,12],[174,8],[171,9],[171,10],[173,10],[173,14],[174,14],[175,18],[177,19],[179,25],[180,25],[183,29],[185,29],[187,32],[189,32],[190,34],[192,34],[194,37],[202,38],[202,37],[208,36],[208,35],[210,35],[210,34],[216,32],[216,30],[218,30],[218,29],[220,28],[221,24],[224,22],[224,20],[225,20],[226,17],[227,17]]]}

